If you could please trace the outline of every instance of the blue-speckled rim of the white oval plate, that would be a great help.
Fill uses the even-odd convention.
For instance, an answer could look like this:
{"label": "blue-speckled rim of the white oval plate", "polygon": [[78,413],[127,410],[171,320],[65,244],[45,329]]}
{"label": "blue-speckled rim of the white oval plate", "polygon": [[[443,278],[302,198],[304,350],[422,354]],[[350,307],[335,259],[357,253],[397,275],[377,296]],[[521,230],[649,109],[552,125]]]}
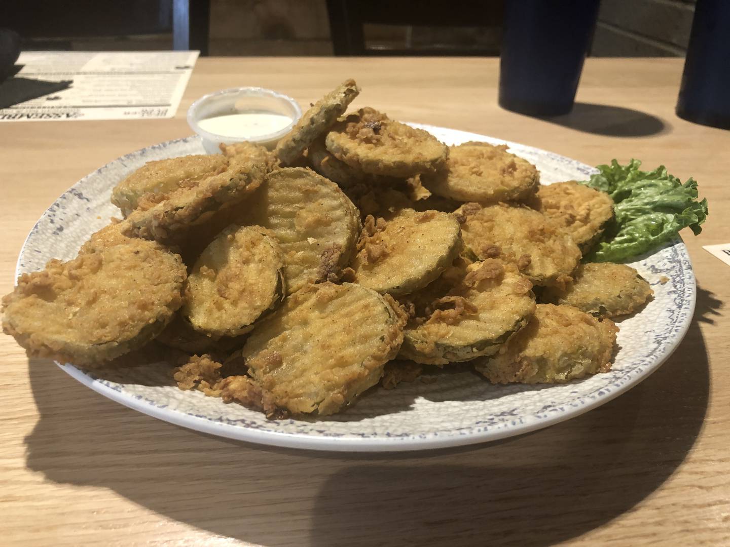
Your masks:
{"label": "blue-speckled rim of the white oval plate", "polygon": [[[414,125],[415,127],[420,127],[427,130],[442,129],[424,124],[412,123],[410,125]],[[493,137],[480,135],[478,133],[468,133],[465,131],[459,131],[459,133],[462,133],[463,135],[469,135],[469,139],[500,142],[507,144],[508,146],[510,146],[511,148],[515,148],[516,150],[529,150],[531,152],[536,152],[539,155],[545,155],[552,160],[558,160],[563,163],[570,163],[572,164],[572,166],[575,166],[575,168],[584,172],[585,174],[591,174],[592,172],[595,172],[595,168],[588,166],[584,163],[580,163],[577,160],[572,160],[571,158],[566,158],[565,156],[561,156],[553,152],[548,152],[546,150],[542,150],[536,147],[529,147],[525,144],[504,141],[502,139],[495,139]],[[199,140],[199,137],[188,136],[181,139],[174,139],[172,141],[165,141],[159,144],[154,144],[150,147],[145,147],[135,152],[130,152],[126,155],[123,155],[121,158],[112,160],[110,163],[107,163],[106,165],[100,167],[93,173],[83,177],[79,182],[69,188],[69,190],[66,190],[66,192],[61,194],[61,196],[67,195],[69,193],[74,193],[76,190],[79,189],[79,187],[82,187],[82,185],[84,185],[85,182],[87,182],[87,180],[94,174],[98,174],[114,164],[122,163],[124,165],[124,160],[137,158],[139,155],[145,155],[147,150],[166,148],[171,146],[172,144],[188,143],[195,140]],[[61,196],[59,196],[58,199],[56,199],[53,203],[57,203],[61,199]],[[53,206],[53,204],[51,206]],[[26,251],[26,244],[28,243],[28,239],[31,238],[34,230],[36,230],[37,228],[37,225],[41,220],[44,219],[47,214],[48,211],[42,214],[40,219],[34,225],[34,228],[32,228],[30,233],[28,233],[28,236],[26,236],[26,241],[23,242],[23,247],[21,248],[20,255],[18,257],[18,263],[16,263],[16,277],[20,274],[20,263],[23,259],[23,253]],[[677,330],[672,333],[671,338],[667,339],[667,342],[669,342],[669,344],[662,344],[661,346],[658,346],[656,351],[650,355],[650,357],[653,357],[652,361],[645,365],[642,371],[640,371],[639,373],[635,373],[635,371],[628,371],[626,376],[621,379],[623,380],[623,382],[621,384],[613,384],[613,389],[600,390],[598,393],[591,394],[592,397],[590,398],[590,400],[587,401],[583,400],[583,397],[577,397],[577,400],[580,399],[580,404],[570,406],[569,408],[556,409],[557,411],[553,414],[544,414],[542,416],[537,416],[536,414],[526,415],[523,416],[524,419],[520,418],[519,421],[505,422],[504,424],[500,424],[499,426],[497,426],[495,429],[484,429],[479,431],[472,430],[464,434],[464,432],[460,432],[460,430],[469,428],[460,428],[460,430],[453,430],[450,432],[431,432],[421,435],[415,434],[410,436],[383,435],[376,437],[361,437],[354,435],[352,437],[345,437],[341,435],[318,436],[302,434],[300,432],[287,433],[275,430],[255,429],[252,427],[242,426],[241,424],[226,424],[224,422],[217,422],[212,419],[208,419],[204,416],[196,416],[176,410],[170,410],[165,406],[158,407],[155,406],[155,402],[152,400],[139,399],[137,397],[134,397],[133,395],[129,395],[117,389],[113,389],[109,384],[107,384],[107,382],[100,381],[93,376],[81,371],[80,369],[75,368],[69,363],[64,365],[56,362],[56,364],[61,368],[61,370],[68,373],[69,376],[72,376],[77,381],[80,381],[81,384],[90,387],[94,391],[100,393],[101,395],[104,395],[105,397],[110,398],[111,400],[114,400],[117,403],[122,404],[123,406],[133,408],[136,411],[142,412],[143,414],[147,414],[149,416],[153,416],[157,419],[161,419],[164,422],[169,422],[172,424],[180,425],[182,427],[187,427],[192,430],[210,433],[211,435],[220,435],[239,441],[248,441],[252,443],[261,443],[271,446],[282,446],[288,448],[327,451],[414,451],[445,448],[448,446],[463,446],[472,443],[483,443],[486,441],[496,441],[502,438],[507,438],[514,435],[522,435],[527,432],[539,430],[544,427],[549,427],[553,424],[564,422],[567,419],[579,416],[580,414],[601,406],[604,403],[608,403],[610,400],[618,397],[618,395],[621,395],[623,392],[628,391],[629,389],[631,389],[631,387],[639,384],[647,376],[656,371],[659,365],[661,365],[661,363],[664,362],[675,351],[675,349],[677,349],[677,346],[679,346],[685,334],[687,333],[689,325],[691,324],[691,319],[694,314],[696,301],[696,282],[694,278],[694,272],[691,268],[691,260],[689,259],[687,249],[683,244],[681,238],[675,238],[675,240],[667,244],[666,247],[672,247],[672,250],[675,252],[677,264],[683,265],[683,267],[680,268],[680,277],[683,281],[683,294],[678,295],[681,298],[677,298],[677,300],[682,303],[682,307],[680,309],[677,309],[677,312],[683,317],[683,322],[680,325],[677,325]],[[675,279],[675,281],[678,281],[678,279]]]}

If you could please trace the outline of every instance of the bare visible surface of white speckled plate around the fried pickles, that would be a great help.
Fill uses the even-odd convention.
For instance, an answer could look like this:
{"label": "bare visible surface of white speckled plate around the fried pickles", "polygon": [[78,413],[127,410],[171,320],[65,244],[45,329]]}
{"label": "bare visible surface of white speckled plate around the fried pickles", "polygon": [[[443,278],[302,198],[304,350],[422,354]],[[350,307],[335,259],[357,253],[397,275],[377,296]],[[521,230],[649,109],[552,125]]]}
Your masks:
{"label": "bare visible surface of white speckled plate around the fried pickles", "polygon": [[[499,139],[420,125],[447,144]],[[569,158],[508,143],[534,163],[542,182],[587,179],[594,169]],[[18,259],[17,273],[36,271],[50,258],[73,258],[88,236],[118,216],[112,187],[145,162],[204,153],[199,137],[147,147],[112,161],[77,182],[43,214]],[[610,152],[607,152],[610,154]],[[607,158],[610,160],[610,158]],[[619,323],[620,349],[610,373],[555,386],[493,386],[475,373],[416,380],[366,392],[342,414],[326,419],[267,420],[263,414],[172,385],[166,363],[97,378],[59,365],[82,384],[123,405],[213,435],[302,449],[401,451],[493,441],[562,422],[602,405],[645,379],[682,340],[694,312],[695,280],[687,249],[677,239],[632,263],[655,291],[635,317]]]}

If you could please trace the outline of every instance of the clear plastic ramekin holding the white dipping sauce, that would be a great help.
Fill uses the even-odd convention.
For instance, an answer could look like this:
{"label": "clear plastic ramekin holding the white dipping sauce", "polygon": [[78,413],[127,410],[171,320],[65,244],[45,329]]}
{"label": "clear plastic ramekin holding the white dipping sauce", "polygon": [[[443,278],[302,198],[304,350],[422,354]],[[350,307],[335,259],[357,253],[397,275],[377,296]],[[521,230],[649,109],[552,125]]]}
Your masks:
{"label": "clear plastic ramekin holding the white dipping sauce", "polygon": [[[280,131],[255,137],[232,137],[205,131],[199,125],[200,120],[228,114],[244,112],[271,112],[291,117],[291,123]],[[265,88],[232,88],[204,95],[191,104],[188,109],[188,125],[203,139],[203,147],[209,154],[220,153],[220,143],[251,141],[262,144],[269,150],[277,141],[291,131],[301,117],[301,108],[293,98]]]}

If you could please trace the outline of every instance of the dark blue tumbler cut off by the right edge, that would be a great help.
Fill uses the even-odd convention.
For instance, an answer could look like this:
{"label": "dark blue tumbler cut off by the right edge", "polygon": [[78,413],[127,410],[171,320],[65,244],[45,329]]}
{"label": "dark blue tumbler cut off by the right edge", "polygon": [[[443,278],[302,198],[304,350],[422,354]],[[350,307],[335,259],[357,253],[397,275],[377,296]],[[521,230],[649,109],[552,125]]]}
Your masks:
{"label": "dark blue tumbler cut off by the right edge", "polygon": [[730,128],[730,1],[698,0],[677,116]]}

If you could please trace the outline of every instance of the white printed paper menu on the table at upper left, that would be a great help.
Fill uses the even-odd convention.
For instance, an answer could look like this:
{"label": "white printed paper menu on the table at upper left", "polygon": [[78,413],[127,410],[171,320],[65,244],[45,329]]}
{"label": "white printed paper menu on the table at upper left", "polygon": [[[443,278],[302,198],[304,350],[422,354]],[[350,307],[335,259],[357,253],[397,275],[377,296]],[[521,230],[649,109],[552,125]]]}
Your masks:
{"label": "white printed paper menu on the table at upper left", "polygon": [[[0,122],[139,120],[177,112],[198,51],[29,51],[16,78],[71,87],[0,109]],[[3,86],[9,80],[4,82]],[[2,89],[0,87],[0,89]]]}

